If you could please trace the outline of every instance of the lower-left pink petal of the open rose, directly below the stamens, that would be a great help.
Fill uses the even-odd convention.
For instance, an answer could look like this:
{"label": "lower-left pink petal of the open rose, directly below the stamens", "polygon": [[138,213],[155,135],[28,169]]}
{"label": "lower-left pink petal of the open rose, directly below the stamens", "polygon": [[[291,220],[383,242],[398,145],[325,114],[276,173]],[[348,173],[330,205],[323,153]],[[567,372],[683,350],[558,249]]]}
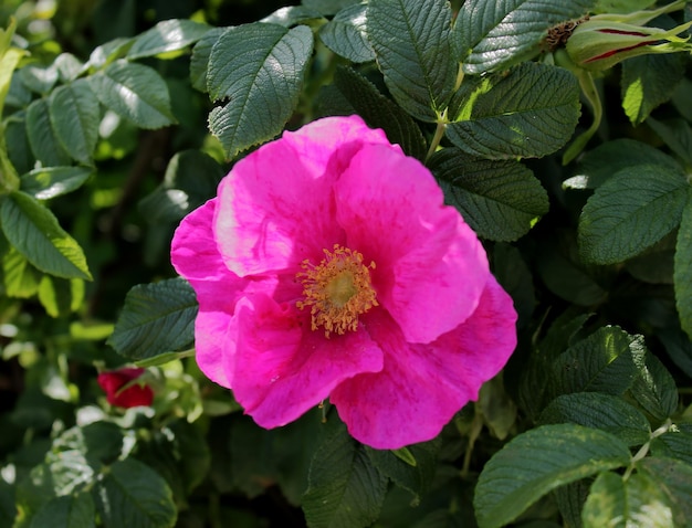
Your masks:
{"label": "lower-left pink petal of the open rose, directly below the stamens", "polygon": [[310,314],[265,295],[238,303],[233,394],[263,427],[284,425],[325,400],[344,380],[382,368],[382,351],[365,331],[325,338]]}

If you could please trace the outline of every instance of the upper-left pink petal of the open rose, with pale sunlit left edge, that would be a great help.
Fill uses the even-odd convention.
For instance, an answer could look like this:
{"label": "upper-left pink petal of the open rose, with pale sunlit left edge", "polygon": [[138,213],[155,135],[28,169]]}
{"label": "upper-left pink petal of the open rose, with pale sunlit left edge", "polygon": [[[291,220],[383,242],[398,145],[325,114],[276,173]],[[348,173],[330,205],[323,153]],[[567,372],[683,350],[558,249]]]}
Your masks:
{"label": "upper-left pink petal of the open rose, with pale sunlit left edge", "polygon": [[[358,117],[325,118],[284,133],[240,160],[219,186],[217,241],[240,276],[297,270],[344,241],[333,183],[363,141],[386,141]],[[340,160],[340,161],[339,161]]]}

